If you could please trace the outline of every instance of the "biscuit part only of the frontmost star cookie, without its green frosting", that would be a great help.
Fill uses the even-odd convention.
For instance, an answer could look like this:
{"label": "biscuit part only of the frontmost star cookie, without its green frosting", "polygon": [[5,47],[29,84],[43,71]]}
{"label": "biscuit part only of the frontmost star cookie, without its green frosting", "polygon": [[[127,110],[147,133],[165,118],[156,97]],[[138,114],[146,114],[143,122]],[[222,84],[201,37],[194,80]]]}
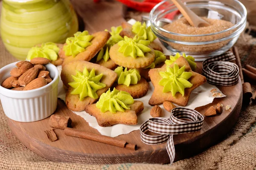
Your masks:
{"label": "biscuit part only of the frontmost star cookie, without its green frosting", "polygon": [[130,105],[130,108],[131,110],[125,110],[125,112],[117,111],[116,113],[111,113],[110,111],[106,111],[103,113],[96,107],[96,104],[92,104],[87,105],[85,111],[90,115],[95,116],[99,126],[102,127],[116,124],[137,125],[137,113],[143,111],[143,102],[134,100],[134,104]]}

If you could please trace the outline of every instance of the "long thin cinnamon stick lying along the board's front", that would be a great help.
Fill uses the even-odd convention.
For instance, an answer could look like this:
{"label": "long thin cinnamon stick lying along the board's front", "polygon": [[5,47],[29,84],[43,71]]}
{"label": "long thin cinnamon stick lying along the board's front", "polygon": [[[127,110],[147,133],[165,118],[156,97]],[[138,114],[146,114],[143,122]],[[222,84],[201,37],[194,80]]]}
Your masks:
{"label": "long thin cinnamon stick lying along the board's front", "polygon": [[111,144],[113,146],[123,147],[130,150],[136,150],[137,145],[136,144],[128,144],[124,140],[115,139],[109,136],[99,135],[96,133],[90,133],[90,132],[84,132],[81,130],[73,129],[73,128],[65,128],[64,134],[67,136],[73,136],[83,139],[88,139],[96,142],[101,142],[105,144]]}

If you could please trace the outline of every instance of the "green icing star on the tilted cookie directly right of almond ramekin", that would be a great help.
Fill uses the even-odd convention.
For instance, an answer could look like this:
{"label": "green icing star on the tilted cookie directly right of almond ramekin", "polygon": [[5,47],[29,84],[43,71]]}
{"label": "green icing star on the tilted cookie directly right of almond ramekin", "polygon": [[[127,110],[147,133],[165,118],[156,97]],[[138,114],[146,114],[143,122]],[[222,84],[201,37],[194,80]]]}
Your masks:
{"label": "green icing star on the tilted cookie directly right of almond ramekin", "polygon": [[105,88],[104,83],[99,82],[103,74],[95,75],[94,68],[90,71],[84,68],[83,73],[76,70],[76,76],[73,76],[74,82],[68,83],[71,87],[75,88],[71,94],[79,94],[80,101],[89,96],[93,99],[97,99],[98,95],[96,91]]}

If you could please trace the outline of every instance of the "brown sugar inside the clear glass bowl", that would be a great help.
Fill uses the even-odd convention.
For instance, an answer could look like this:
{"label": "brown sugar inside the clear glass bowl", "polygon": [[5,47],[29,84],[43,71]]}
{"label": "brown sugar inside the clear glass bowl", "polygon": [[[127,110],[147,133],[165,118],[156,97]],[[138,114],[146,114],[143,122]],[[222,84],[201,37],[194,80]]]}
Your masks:
{"label": "brown sugar inside the clear glass bowl", "polygon": [[[210,26],[207,27],[193,27],[189,25],[187,20],[182,17],[178,20],[175,20],[173,23],[169,23],[165,25],[163,28],[167,31],[171,31],[173,33],[178,34],[189,34],[189,35],[202,35],[202,34],[211,34],[215,32],[220,32],[226,30],[233,26],[233,23],[225,20],[216,20],[210,19],[206,17],[202,17],[206,20]],[[209,35],[209,36],[195,36],[195,37],[185,37],[180,35],[172,35],[162,32],[162,34],[169,39],[183,41],[183,42],[207,42],[212,40],[218,40],[223,37],[227,37],[228,35],[232,34],[234,30],[226,31],[221,34]],[[181,45],[174,42],[167,42],[172,48],[182,52],[191,52],[191,53],[209,53],[215,51],[224,45],[226,45],[230,40],[225,40],[222,42],[205,44],[205,45]]]}

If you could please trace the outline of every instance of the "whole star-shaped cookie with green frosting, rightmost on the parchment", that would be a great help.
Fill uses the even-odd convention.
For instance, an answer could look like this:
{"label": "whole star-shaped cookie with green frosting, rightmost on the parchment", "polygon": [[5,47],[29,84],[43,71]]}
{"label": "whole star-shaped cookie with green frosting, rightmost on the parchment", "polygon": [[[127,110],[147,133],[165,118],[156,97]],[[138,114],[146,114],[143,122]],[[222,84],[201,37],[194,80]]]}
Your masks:
{"label": "whole star-shaped cookie with green frosting, rightmost on the parchment", "polygon": [[191,70],[189,63],[182,56],[166,68],[151,69],[149,76],[154,85],[149,105],[160,105],[164,101],[169,101],[186,106],[192,90],[206,82],[204,76]]}

